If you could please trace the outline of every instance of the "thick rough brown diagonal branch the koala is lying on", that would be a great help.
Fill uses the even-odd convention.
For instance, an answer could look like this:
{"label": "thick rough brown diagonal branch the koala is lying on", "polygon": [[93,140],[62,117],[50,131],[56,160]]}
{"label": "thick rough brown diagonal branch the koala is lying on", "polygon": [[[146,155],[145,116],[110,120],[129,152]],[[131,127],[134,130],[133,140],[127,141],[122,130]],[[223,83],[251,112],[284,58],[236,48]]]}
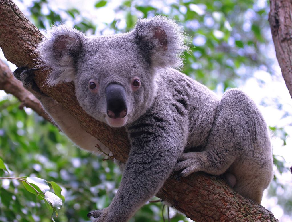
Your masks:
{"label": "thick rough brown diagonal branch the koala is lying on", "polygon": [[[16,66],[34,67],[34,47],[42,34],[25,18],[11,0],[0,0],[0,47]],[[36,73],[39,88],[67,108],[86,132],[112,151],[114,158],[126,162],[129,141],[124,128],[113,129],[86,114],[73,96],[72,83],[44,86],[47,71]],[[218,177],[196,173],[177,181],[169,178],[158,192],[162,198],[194,221],[278,221],[263,206],[245,199]]]}

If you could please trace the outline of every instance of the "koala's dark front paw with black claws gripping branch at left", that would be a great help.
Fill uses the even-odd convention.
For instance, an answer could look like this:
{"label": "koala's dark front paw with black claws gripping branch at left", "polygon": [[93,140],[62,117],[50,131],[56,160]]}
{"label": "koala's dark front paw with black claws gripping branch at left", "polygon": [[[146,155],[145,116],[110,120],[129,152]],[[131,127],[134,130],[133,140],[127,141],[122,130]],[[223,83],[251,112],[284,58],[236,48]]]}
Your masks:
{"label": "koala's dark front paw with black claws gripping branch at left", "polygon": [[23,87],[33,94],[42,94],[39,87],[34,82],[34,71],[39,69],[28,69],[27,67],[20,67],[14,70],[13,75],[20,80]]}

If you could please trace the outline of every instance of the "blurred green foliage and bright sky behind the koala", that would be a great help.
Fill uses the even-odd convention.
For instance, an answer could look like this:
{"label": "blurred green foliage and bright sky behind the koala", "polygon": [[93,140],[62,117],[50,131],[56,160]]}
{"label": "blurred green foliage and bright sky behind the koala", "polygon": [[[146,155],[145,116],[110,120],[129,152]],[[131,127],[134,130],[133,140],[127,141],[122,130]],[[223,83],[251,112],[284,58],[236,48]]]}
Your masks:
{"label": "blurred green foliage and bright sky behind the koala", "polygon": [[[265,0],[24,0],[15,3],[41,30],[65,23],[87,35],[124,33],[133,28],[138,18],[157,14],[173,18],[184,27],[186,44],[190,46],[190,51],[184,54],[182,71],[219,95],[232,87],[250,90],[251,96],[262,94],[252,88],[262,87],[264,91],[268,80],[269,86],[272,82],[275,87],[276,81],[282,81],[267,20],[269,3]],[[278,88],[281,87],[285,88],[283,82]],[[268,92],[273,90],[270,88]],[[13,96],[3,92],[1,95],[0,157],[10,174],[0,170],[0,177],[35,176],[55,181],[65,196],[55,221],[90,221],[86,214],[107,207],[117,191],[121,179],[117,166],[111,160],[102,161],[102,157],[76,148],[32,110],[19,110],[20,103]],[[290,186],[287,183],[291,182],[291,175],[287,158],[279,152],[284,153],[291,144],[291,103],[283,102],[279,96],[252,98],[264,116],[268,116],[274,153],[277,151],[275,177],[262,204],[280,221],[292,221],[291,183]],[[291,100],[289,96],[288,99]],[[0,180],[0,187],[0,221],[51,221],[45,204],[18,181]],[[147,203],[131,221],[163,221],[161,211],[161,203]],[[170,217],[172,222],[189,221],[172,209]]]}

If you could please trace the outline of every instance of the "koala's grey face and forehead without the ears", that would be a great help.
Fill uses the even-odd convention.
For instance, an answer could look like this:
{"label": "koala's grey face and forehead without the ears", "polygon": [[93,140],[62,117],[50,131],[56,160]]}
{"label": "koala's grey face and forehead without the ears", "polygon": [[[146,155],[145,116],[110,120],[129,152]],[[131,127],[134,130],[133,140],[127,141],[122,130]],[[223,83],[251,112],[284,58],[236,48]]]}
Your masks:
{"label": "koala's grey face and forehead without the ears", "polygon": [[131,35],[89,38],[83,42],[74,78],[82,108],[112,127],[133,122],[156,94],[154,70]]}

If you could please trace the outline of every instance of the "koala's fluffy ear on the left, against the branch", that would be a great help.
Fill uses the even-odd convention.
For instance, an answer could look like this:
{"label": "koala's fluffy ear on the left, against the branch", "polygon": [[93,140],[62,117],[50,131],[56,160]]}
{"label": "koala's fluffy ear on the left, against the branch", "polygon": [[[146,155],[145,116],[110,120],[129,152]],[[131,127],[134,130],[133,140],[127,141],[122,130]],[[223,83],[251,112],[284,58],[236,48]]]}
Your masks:
{"label": "koala's fluffy ear on the left, against the branch", "polygon": [[53,27],[48,32],[48,38],[36,50],[40,66],[52,69],[46,79],[47,84],[56,85],[74,79],[76,59],[85,38],[83,33],[65,25]]}

